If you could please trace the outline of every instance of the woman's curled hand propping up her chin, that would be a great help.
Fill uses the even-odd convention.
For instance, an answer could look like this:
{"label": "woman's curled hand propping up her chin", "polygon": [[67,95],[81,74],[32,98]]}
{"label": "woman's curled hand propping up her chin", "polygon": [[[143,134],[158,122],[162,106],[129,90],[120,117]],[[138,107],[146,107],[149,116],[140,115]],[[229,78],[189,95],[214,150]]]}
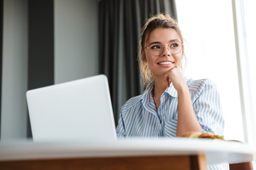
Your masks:
{"label": "woman's curled hand propping up her chin", "polygon": [[169,87],[170,82],[172,82],[176,91],[181,91],[183,88],[187,88],[181,67],[174,67],[170,69],[168,72],[166,72],[164,78],[166,87]]}

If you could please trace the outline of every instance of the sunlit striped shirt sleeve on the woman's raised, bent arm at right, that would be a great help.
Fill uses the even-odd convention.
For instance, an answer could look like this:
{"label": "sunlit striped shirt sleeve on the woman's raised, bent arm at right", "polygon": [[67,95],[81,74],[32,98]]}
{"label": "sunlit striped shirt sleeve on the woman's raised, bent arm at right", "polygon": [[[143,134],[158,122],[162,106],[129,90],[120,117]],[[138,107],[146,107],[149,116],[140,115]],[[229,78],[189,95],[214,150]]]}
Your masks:
{"label": "sunlit striped shirt sleeve on the woman's raised, bent arm at right", "polygon": [[224,119],[220,96],[213,82],[205,80],[193,102],[193,108],[203,132],[223,135]]}

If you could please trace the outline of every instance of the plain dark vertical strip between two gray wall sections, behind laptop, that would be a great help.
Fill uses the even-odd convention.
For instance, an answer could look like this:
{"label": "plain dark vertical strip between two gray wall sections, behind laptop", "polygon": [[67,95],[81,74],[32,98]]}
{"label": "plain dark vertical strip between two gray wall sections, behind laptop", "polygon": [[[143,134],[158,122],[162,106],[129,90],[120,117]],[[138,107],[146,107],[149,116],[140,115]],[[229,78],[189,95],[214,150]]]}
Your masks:
{"label": "plain dark vertical strip between two gray wall sections, behind laptop", "polygon": [[28,90],[54,84],[53,14],[53,0],[28,0]]}

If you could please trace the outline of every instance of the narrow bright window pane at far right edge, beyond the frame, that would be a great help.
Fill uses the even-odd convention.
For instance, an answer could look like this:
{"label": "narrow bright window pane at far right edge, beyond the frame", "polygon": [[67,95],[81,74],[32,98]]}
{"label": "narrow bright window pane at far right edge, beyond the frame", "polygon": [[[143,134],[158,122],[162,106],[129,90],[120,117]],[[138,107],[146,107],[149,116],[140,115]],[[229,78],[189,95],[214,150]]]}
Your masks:
{"label": "narrow bright window pane at far right edge, beyond the frame", "polygon": [[254,66],[255,49],[254,43],[256,38],[256,22],[252,16],[255,16],[256,2],[250,0],[233,0],[233,11],[235,11],[235,37],[240,62],[240,84],[242,84],[243,97],[243,120],[245,128],[245,140],[248,143],[256,144],[256,77]]}

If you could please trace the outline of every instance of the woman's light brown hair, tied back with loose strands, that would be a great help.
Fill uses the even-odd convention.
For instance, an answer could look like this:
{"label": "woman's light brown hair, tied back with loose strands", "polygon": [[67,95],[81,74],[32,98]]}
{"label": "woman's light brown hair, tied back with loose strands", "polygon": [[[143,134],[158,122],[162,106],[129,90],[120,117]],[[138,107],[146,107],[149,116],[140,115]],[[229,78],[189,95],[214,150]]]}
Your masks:
{"label": "woman's light brown hair, tied back with loose strands", "polygon": [[[146,21],[144,27],[142,28],[142,40],[139,41],[138,52],[138,61],[144,87],[146,86],[146,84],[149,83],[149,81],[151,81],[151,79],[153,79],[153,74],[149,70],[148,64],[146,62],[145,52],[143,52],[142,56],[141,51],[144,51],[145,49],[144,46],[147,38],[149,37],[149,34],[151,33],[152,30],[156,28],[173,28],[178,33],[179,38],[181,38],[181,43],[183,44],[183,37],[181,35],[181,30],[178,27],[178,23],[169,14],[157,14],[156,16],[152,16],[151,18],[149,18],[149,20]],[[184,55],[183,46],[182,55]]]}

